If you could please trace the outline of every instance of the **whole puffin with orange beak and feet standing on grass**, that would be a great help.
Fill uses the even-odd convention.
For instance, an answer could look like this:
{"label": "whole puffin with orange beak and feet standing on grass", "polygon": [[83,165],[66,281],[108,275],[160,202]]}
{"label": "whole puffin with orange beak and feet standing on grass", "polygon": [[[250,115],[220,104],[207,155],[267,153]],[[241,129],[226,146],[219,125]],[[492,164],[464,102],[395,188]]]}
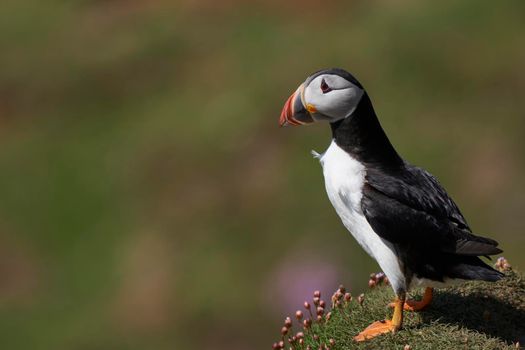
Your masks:
{"label": "whole puffin with orange beak and feet standing on grass", "polygon": [[[312,151],[328,198],[396,296],[392,319],[373,322],[355,341],[398,331],[403,311],[426,308],[434,288],[503,277],[480,259],[502,253],[498,242],[475,235],[438,180],[397,153],[351,73],[339,68],[313,73],[288,98],[279,119],[281,126],[315,122],[327,122],[332,131],[328,149]],[[407,299],[418,287],[425,288],[421,300]]]}

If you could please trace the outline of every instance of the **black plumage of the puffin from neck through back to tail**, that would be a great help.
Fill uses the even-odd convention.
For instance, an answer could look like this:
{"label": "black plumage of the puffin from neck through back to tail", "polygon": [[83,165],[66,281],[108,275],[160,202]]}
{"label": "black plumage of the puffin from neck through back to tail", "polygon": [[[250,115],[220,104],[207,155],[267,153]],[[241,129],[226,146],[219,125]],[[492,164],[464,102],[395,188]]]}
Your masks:
{"label": "black plumage of the puffin from neck through back to tail", "polygon": [[338,146],[365,165],[363,213],[395,247],[407,274],[438,281],[501,278],[478,258],[501,253],[498,243],[474,235],[437,179],[397,154],[366,93],[351,116],[331,126]]}

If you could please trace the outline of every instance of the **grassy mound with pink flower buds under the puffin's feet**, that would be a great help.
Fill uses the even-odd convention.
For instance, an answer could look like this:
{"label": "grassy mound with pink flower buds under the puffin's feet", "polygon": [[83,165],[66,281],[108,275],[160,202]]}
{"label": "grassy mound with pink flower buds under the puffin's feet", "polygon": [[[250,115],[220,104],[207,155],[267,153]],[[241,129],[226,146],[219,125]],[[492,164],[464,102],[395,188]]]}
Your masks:
{"label": "grassy mound with pink flower buds under the puffin's feet", "polygon": [[[405,312],[398,333],[365,343],[352,338],[373,321],[392,316],[387,307],[394,298],[391,287],[378,284],[359,297],[345,295],[344,289],[338,292],[330,312],[316,294],[293,322],[287,318],[282,342],[274,349],[516,349],[518,342],[525,344],[525,280],[520,273],[507,271],[497,283],[438,289],[427,310]],[[420,296],[421,291],[411,295]]]}

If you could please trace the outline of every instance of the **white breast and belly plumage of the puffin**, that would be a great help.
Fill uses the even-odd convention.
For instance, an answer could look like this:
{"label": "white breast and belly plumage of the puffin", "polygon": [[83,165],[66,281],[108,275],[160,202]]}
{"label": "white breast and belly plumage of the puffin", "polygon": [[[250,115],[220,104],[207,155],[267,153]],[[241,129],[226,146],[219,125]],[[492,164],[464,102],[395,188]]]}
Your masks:
{"label": "white breast and belly plumage of the puffin", "polygon": [[379,237],[363,215],[362,189],[366,169],[332,141],[319,156],[326,192],[345,227],[388,276],[394,290],[405,290],[405,277],[390,243]]}

